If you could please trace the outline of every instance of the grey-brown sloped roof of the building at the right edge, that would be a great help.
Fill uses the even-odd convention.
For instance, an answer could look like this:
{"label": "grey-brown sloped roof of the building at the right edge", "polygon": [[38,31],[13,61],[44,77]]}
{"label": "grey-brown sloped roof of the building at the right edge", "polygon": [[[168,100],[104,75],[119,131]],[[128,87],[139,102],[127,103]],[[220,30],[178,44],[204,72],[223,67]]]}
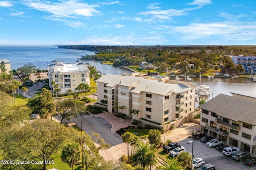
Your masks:
{"label": "grey-brown sloped roof of the building at the right edge", "polygon": [[221,117],[256,125],[255,102],[219,94],[199,107],[215,112]]}

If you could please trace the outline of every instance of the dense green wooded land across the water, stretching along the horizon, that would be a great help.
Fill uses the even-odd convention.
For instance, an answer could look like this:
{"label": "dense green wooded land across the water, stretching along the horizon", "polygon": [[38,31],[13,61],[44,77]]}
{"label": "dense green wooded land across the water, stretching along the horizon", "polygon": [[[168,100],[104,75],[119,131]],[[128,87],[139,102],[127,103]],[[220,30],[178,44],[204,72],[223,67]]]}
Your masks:
{"label": "dense green wooded land across the water, stretching along the horizon", "polygon": [[[95,51],[95,55],[82,56],[82,59],[107,61],[113,66],[139,65],[142,61],[152,63],[165,72],[167,68],[184,70],[188,64],[194,64],[190,74],[207,72],[209,69],[222,69],[222,72],[242,72],[241,66],[235,66],[230,55],[255,56],[256,47],[247,46],[60,46],[68,49]],[[93,49],[93,50],[91,50]]]}

